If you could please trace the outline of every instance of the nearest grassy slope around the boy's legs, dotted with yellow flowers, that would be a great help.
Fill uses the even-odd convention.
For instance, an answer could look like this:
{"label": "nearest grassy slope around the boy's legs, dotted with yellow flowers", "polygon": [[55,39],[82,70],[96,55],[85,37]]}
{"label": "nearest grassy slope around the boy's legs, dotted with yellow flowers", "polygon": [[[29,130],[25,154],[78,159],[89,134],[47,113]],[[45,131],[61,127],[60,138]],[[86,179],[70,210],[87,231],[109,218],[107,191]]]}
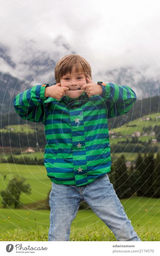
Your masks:
{"label": "nearest grassy slope around the boy's legs, dotted with yellow flowers", "polygon": [[[132,197],[122,199],[121,202],[141,240],[159,241],[159,200]],[[1,208],[0,226],[2,231],[0,240],[48,241],[49,215],[49,210]],[[8,219],[8,217],[10,218]],[[4,219],[6,219],[5,222]],[[71,224],[70,241],[116,241],[116,239],[106,224],[89,209],[78,211]]]}

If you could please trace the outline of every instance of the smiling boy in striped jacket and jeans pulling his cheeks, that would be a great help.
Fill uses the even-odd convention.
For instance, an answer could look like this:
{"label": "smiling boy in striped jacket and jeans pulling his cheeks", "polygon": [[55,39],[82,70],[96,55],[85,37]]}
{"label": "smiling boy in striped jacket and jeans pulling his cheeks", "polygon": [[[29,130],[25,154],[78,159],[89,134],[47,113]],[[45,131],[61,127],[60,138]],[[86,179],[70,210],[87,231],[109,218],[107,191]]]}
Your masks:
{"label": "smiling boy in striped jacket and jeans pulling his cheeks", "polygon": [[21,118],[45,127],[44,165],[52,181],[48,241],[69,241],[81,201],[118,241],[141,241],[107,175],[107,118],[126,114],[136,94],[128,86],[95,84],[91,79],[91,67],[83,57],[66,55],[56,64],[55,85],[35,85],[14,99]]}

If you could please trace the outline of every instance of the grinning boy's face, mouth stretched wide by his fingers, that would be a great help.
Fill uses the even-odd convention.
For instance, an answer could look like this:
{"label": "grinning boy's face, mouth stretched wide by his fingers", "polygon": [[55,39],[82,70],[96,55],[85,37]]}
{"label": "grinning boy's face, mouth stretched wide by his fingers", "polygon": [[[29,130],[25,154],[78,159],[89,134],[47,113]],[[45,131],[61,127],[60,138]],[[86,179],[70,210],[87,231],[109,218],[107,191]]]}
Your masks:
{"label": "grinning boy's face, mouth stretched wide by his fingers", "polygon": [[83,73],[65,74],[60,78],[61,87],[68,87],[69,90],[65,91],[65,95],[70,98],[79,97],[84,90],[78,90],[83,84],[86,84],[86,76]]}

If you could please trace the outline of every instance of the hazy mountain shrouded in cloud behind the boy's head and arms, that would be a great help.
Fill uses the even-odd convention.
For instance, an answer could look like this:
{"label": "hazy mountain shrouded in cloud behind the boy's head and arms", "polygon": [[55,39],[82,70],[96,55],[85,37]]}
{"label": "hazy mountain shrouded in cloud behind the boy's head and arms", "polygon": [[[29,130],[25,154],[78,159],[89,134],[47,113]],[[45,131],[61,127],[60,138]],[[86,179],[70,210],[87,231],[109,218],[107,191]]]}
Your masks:
{"label": "hazy mountain shrouded in cloud behind the boy's head and arms", "polygon": [[[5,46],[0,48],[0,110],[2,113],[14,112],[13,100],[18,93],[37,84],[53,85],[56,63],[63,56],[76,53],[62,35],[58,35],[48,45],[46,43],[41,46],[38,45],[39,41],[32,40],[24,43],[25,45],[17,49],[14,54]],[[155,78],[155,74],[153,75],[146,66],[141,69],[137,66],[113,69],[98,65],[96,69],[94,76],[95,74],[98,76],[95,76],[95,82],[100,81],[101,76],[105,77],[104,83],[128,85],[135,91],[137,99],[159,95],[159,72]]]}

